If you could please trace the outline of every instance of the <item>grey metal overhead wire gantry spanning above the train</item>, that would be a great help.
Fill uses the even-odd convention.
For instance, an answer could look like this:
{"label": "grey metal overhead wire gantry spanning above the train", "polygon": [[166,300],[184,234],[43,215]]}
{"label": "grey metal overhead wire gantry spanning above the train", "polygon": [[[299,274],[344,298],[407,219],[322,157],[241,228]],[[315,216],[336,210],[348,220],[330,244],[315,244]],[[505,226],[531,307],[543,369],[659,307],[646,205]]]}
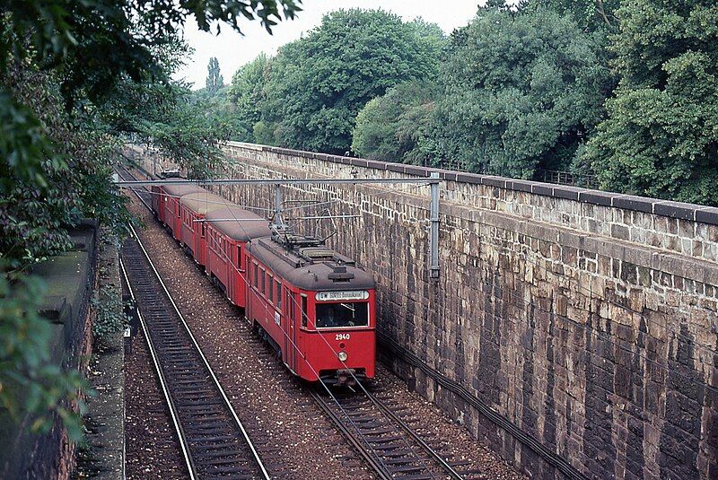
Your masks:
{"label": "grey metal overhead wire gantry spanning above the train", "polygon": [[273,185],[275,186],[275,223],[282,225],[283,185],[365,185],[365,184],[424,184],[431,188],[429,203],[429,278],[439,278],[439,184],[438,171],[431,177],[399,179],[171,179],[171,180],[119,180],[118,187],[151,187],[162,185]]}

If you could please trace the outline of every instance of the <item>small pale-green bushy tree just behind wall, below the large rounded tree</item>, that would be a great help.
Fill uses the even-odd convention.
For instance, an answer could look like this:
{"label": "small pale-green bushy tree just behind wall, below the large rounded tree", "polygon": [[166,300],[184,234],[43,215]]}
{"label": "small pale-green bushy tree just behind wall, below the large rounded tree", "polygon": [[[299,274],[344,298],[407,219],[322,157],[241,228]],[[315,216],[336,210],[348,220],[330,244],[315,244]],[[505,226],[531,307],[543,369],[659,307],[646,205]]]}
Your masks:
{"label": "small pale-green bushy tree just behind wall, below the large rounded tree", "polygon": [[371,100],[356,116],[352,150],[375,160],[425,164],[423,142],[435,97],[435,83],[415,81]]}

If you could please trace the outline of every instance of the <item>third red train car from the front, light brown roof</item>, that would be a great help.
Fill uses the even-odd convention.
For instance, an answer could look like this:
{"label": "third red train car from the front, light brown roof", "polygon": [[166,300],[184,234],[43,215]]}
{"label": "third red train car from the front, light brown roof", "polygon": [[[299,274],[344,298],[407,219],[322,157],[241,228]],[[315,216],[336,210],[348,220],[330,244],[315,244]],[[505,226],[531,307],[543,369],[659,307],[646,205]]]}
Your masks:
{"label": "third red train car from the front, light brown roof", "polygon": [[197,221],[205,220],[206,214],[226,205],[232,204],[222,196],[206,190],[180,197],[181,226],[177,238],[189,249],[192,257],[201,266],[207,263],[206,222]]}

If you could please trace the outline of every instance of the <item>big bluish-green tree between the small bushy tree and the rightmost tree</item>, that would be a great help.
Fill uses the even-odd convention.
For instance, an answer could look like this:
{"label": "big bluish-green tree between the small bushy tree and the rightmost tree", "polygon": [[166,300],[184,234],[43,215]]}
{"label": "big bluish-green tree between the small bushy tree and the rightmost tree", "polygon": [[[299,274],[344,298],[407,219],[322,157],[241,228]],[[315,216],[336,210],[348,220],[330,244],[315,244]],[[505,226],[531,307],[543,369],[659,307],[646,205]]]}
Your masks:
{"label": "big bluish-green tree between the small bushy tree and the rightmost tree", "polygon": [[600,33],[548,9],[479,9],[454,31],[427,148],[469,170],[530,179],[565,169],[613,81]]}

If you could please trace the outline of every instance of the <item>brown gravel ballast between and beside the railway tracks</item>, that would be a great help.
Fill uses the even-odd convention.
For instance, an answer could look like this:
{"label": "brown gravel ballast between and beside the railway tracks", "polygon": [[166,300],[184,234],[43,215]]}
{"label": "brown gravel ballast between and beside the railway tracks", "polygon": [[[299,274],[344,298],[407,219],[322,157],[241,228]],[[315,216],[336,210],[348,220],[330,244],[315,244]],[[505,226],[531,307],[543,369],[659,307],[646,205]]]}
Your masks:
{"label": "brown gravel ballast between and beside the railway tracks", "polygon": [[[306,391],[311,387],[294,379],[274,353],[254,336],[241,310],[211,284],[143,205],[134,199],[131,209],[146,225],[139,232],[145,248],[250,437],[267,458],[272,476],[372,478],[354,450],[313,403]],[[427,441],[441,451],[451,453],[452,460],[468,462],[472,471],[477,472],[473,478],[524,478],[486,445],[472,439],[464,427],[451,423],[436,406],[410,392],[388,369],[380,365],[377,375],[376,395],[389,405],[402,406],[402,411],[410,415],[406,420],[416,432],[426,435]],[[127,390],[129,404],[132,402],[129,386]],[[129,407],[127,412],[130,415]],[[130,462],[135,463],[136,471],[142,470],[145,453],[144,449],[130,451],[128,443],[128,474]],[[151,468],[144,478],[156,477],[152,472]]]}

